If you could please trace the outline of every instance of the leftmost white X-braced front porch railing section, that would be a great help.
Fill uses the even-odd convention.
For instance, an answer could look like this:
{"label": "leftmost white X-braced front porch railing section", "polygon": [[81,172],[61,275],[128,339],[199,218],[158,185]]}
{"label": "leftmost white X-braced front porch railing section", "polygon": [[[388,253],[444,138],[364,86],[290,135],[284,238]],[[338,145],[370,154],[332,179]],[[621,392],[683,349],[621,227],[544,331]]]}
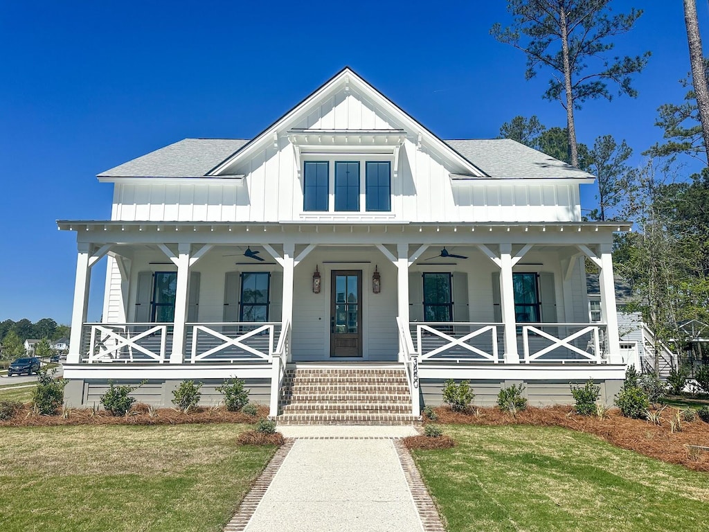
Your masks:
{"label": "leftmost white X-braced front porch railing section", "polygon": [[152,362],[167,360],[168,323],[84,323],[81,362]]}

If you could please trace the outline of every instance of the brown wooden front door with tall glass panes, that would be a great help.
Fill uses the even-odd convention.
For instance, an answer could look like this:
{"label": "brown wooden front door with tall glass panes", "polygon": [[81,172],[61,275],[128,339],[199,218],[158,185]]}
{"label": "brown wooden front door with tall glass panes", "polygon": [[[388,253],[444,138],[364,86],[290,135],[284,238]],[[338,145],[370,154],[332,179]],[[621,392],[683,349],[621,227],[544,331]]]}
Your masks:
{"label": "brown wooden front door with tall glass panes", "polygon": [[330,283],[330,356],[362,356],[362,270],[335,270]]}

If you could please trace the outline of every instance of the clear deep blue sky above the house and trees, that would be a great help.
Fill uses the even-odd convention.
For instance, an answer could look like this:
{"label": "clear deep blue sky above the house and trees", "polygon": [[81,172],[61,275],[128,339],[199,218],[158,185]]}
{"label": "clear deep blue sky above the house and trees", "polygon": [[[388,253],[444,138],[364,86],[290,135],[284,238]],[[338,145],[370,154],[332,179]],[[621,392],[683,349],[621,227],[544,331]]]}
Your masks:
{"label": "clear deep blue sky above the house and trees", "polygon": [[[680,101],[689,70],[681,2],[643,4],[619,54],[652,50],[637,99],[586,104],[581,142],[659,140],[655,109]],[[74,233],[107,219],[96,174],[186,137],[252,138],[345,65],[442,138],[493,138],[515,115],[563,126],[525,82],[525,57],[489,35],[506,2],[23,1],[0,5],[0,321],[69,323]],[[707,3],[698,2],[709,40]],[[639,162],[640,157],[635,162]],[[584,191],[584,207],[593,206]],[[101,315],[94,267],[89,320]]]}

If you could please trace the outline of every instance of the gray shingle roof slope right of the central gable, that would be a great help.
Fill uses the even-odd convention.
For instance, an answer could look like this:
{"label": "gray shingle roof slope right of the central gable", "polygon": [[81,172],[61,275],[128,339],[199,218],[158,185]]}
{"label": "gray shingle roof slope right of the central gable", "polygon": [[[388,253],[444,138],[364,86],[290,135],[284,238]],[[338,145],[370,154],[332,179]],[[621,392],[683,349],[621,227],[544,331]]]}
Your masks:
{"label": "gray shingle roof slope right of the central gable", "polygon": [[509,138],[445,140],[490,177],[499,179],[593,178],[592,174]]}

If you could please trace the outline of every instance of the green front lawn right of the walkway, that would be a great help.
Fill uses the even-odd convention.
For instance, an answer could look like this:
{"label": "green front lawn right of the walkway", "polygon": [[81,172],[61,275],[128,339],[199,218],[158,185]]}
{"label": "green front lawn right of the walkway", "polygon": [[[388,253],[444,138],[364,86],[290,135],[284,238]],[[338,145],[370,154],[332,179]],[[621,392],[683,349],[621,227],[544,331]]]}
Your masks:
{"label": "green front lawn right of the walkway", "polygon": [[706,530],[709,475],[557,427],[443,426],[412,450],[447,530]]}

